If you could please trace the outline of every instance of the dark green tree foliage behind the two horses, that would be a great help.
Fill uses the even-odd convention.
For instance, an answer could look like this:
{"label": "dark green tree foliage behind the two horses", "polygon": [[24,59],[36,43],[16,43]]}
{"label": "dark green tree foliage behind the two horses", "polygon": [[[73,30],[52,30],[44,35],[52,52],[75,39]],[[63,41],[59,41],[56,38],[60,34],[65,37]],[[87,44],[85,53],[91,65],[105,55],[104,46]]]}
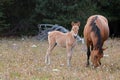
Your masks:
{"label": "dark green tree foliage behind the two horses", "polygon": [[59,24],[70,30],[80,20],[80,35],[89,16],[120,21],[120,0],[0,0],[0,36],[36,35],[38,24]]}

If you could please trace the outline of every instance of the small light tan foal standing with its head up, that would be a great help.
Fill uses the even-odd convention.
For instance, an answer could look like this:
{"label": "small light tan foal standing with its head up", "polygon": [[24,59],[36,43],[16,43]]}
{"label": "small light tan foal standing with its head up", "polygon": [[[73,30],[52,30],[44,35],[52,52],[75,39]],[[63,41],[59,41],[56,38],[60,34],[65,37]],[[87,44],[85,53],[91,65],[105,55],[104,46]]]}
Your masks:
{"label": "small light tan foal standing with its head up", "polygon": [[72,29],[68,33],[62,33],[59,31],[52,31],[48,33],[49,47],[45,56],[45,63],[50,64],[50,54],[56,45],[67,49],[67,65],[70,66],[72,58],[72,50],[76,44],[76,37],[78,34],[80,22],[72,22]]}

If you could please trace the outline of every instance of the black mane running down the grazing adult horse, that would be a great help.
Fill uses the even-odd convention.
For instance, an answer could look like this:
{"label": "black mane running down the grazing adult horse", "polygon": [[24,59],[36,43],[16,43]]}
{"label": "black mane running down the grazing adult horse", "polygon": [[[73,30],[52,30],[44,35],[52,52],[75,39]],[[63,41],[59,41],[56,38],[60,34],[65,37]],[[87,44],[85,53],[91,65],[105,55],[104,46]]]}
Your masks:
{"label": "black mane running down the grazing adult horse", "polygon": [[102,53],[102,38],[100,34],[100,29],[97,27],[95,20],[97,20],[98,16],[95,16],[91,21],[91,31],[95,33],[95,36],[98,37],[97,44],[94,46],[95,49],[99,49],[99,51]]}

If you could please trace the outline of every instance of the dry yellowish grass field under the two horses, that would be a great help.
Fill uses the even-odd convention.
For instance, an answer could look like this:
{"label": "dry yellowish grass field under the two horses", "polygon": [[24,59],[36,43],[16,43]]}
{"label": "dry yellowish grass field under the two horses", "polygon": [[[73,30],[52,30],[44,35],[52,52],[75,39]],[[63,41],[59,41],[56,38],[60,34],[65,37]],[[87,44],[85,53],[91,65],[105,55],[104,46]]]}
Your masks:
{"label": "dry yellowish grass field under the two horses", "polygon": [[47,41],[32,38],[0,39],[0,80],[120,80],[120,39],[108,39],[102,65],[85,67],[86,46],[79,43],[70,68],[66,65],[66,49],[56,47],[51,65],[44,63]]}

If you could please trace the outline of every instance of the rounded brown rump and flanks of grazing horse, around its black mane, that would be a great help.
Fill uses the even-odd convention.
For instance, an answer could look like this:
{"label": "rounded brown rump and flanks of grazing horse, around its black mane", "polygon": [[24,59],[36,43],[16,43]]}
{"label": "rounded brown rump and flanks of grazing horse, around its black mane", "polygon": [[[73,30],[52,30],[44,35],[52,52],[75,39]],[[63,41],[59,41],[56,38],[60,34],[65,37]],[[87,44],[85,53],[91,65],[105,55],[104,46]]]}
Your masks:
{"label": "rounded brown rump and flanks of grazing horse, around its black mane", "polygon": [[[95,17],[97,16],[96,20]],[[84,38],[86,40],[86,42],[91,42],[91,34],[92,32],[97,32],[97,31],[92,31],[92,23],[94,23],[94,25],[96,25],[96,27],[98,27],[98,29],[100,30],[100,35],[101,35],[101,39],[102,42],[105,41],[108,37],[109,37],[109,27],[108,27],[108,20],[101,15],[93,15],[91,17],[88,18],[87,23],[85,25],[84,28]]]}

